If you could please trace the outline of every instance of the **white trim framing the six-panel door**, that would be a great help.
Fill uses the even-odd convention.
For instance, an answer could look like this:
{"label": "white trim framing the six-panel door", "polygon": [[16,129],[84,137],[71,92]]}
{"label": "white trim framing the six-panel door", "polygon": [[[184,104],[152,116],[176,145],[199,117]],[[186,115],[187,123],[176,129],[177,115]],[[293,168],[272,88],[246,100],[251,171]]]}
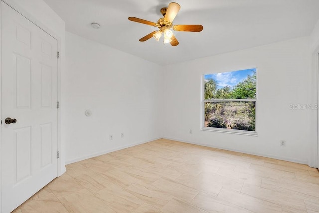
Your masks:
{"label": "white trim framing the six-panel door", "polygon": [[[4,3],[6,3],[8,6],[13,8],[15,11],[20,13],[22,16],[24,16],[26,19],[34,23],[36,26],[41,28],[43,31],[51,35],[53,38],[57,40],[57,51],[60,53],[59,59],[57,59],[57,101],[61,103],[61,71],[62,71],[62,59],[64,57],[61,57],[61,52],[64,54],[62,50],[62,38],[58,36],[56,33],[54,33],[52,30],[50,30],[49,26],[44,25],[39,19],[34,17],[31,13],[26,11],[24,8],[22,8],[21,5],[19,5],[18,2],[11,1],[11,0],[1,0]],[[1,28],[1,21],[2,21],[2,10],[1,10],[1,4],[0,4],[0,37],[2,36],[2,28]],[[0,42],[0,50],[2,50],[1,42]],[[2,55],[0,51],[0,105],[2,106]],[[64,172],[66,172],[65,168],[65,162],[64,162],[64,149],[61,144],[61,112],[60,108],[57,109],[57,149],[60,152],[60,157],[57,159],[57,171],[56,176],[61,176]],[[2,111],[0,111],[0,117],[2,119]],[[4,122],[4,121],[3,121]],[[61,156],[62,154],[62,156]],[[2,156],[2,125],[0,128],[0,156]],[[0,157],[0,191],[2,192],[2,157]],[[2,193],[0,193],[0,212],[2,211]]]}

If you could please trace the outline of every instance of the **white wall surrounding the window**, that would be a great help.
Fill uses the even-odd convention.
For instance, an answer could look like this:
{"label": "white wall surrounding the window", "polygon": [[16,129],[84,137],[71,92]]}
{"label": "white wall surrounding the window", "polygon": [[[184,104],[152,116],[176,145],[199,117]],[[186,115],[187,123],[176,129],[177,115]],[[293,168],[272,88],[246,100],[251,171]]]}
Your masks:
{"label": "white wall surrounding the window", "polygon": [[[316,133],[316,110],[290,110],[289,104],[315,104],[309,93],[309,37],[211,56],[165,67],[165,138],[244,153],[308,163]],[[257,67],[258,136],[200,130],[203,74]],[[189,130],[193,134],[189,134]],[[280,140],[286,140],[281,147]]]}

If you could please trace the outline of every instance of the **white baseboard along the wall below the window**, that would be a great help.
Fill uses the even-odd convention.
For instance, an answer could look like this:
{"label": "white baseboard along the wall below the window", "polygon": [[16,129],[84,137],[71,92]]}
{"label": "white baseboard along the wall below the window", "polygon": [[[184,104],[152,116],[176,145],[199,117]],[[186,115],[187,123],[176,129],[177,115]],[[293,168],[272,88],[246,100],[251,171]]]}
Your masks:
{"label": "white baseboard along the wall below the window", "polygon": [[266,155],[266,154],[257,153],[257,152],[247,152],[245,150],[238,150],[238,149],[231,149],[228,147],[213,146],[211,144],[202,144],[202,143],[196,143],[196,142],[192,142],[192,141],[184,141],[184,140],[180,140],[180,139],[176,139],[176,138],[167,138],[167,137],[163,137],[163,138],[167,139],[167,140],[180,141],[180,142],[184,142],[184,143],[188,143],[188,144],[195,144],[195,145],[206,146],[206,147],[211,147],[211,148],[229,150],[229,151],[234,151],[234,152],[241,152],[241,153],[250,154],[250,155],[257,155],[257,156],[262,156],[262,157],[267,157],[267,158],[274,158],[274,159],[278,159],[278,160],[290,161],[290,162],[294,162],[294,163],[308,165],[308,160],[286,158],[283,156],[276,156],[276,155]]}

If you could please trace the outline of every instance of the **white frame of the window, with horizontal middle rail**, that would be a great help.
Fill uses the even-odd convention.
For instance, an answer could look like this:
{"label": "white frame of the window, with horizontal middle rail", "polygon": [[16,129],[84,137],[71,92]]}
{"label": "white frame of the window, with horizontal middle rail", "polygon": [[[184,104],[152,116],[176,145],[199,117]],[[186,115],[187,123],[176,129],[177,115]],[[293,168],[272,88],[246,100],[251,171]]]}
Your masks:
{"label": "white frame of the window, with horizontal middle rail", "polygon": [[[247,68],[249,69],[249,68]],[[254,99],[205,99],[205,75],[215,74],[215,73],[208,73],[202,75],[201,80],[201,130],[204,131],[213,131],[213,132],[224,132],[224,133],[235,133],[241,135],[252,135],[257,136],[257,67],[256,69],[256,98]],[[245,70],[245,69],[238,69],[238,70]],[[234,70],[236,71],[236,70]],[[231,71],[229,71],[231,72]],[[248,130],[237,130],[237,129],[224,129],[224,128],[217,128],[217,127],[205,127],[205,103],[206,102],[255,102],[255,131],[248,131]]]}

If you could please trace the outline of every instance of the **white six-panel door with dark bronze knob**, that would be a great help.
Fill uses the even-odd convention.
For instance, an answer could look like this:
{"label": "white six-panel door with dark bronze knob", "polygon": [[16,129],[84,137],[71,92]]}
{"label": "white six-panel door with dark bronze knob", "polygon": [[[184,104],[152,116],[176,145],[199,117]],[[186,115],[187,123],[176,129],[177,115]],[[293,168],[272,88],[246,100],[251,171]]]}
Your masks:
{"label": "white six-panel door with dark bronze knob", "polygon": [[2,1],[1,14],[2,212],[8,213],[57,177],[57,41]]}

